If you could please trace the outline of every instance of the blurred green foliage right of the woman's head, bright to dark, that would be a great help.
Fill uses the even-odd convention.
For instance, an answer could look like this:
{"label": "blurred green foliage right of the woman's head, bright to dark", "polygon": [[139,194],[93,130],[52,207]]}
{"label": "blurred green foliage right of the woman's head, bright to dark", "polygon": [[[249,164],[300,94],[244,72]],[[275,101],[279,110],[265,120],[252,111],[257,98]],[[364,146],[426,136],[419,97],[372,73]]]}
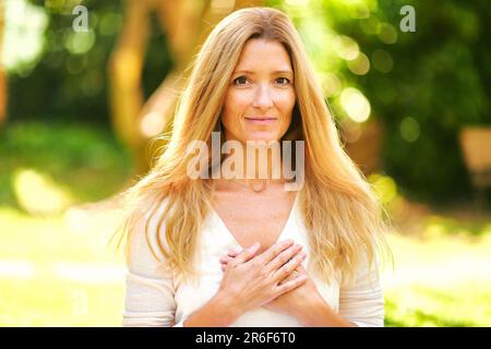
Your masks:
{"label": "blurred green foliage right of the woman's head, bright to dark", "polygon": [[[415,33],[399,29],[404,5],[415,9]],[[318,70],[331,70],[340,83],[328,96],[335,116],[345,116],[339,95],[346,87],[356,86],[370,100],[371,118],[384,129],[384,170],[403,194],[440,203],[468,198],[458,132],[491,125],[489,1],[333,0],[311,1],[308,11],[285,9]],[[358,44],[358,58],[339,59],[338,35]],[[370,64],[366,74],[357,69],[361,53]]]}

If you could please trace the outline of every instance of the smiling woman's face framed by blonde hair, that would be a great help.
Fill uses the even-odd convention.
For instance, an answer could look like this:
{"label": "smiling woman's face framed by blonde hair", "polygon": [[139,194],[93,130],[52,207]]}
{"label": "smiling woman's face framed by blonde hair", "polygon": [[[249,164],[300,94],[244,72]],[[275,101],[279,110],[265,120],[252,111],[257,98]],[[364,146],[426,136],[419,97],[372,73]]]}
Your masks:
{"label": "smiling woman's face framed by blonde hair", "polygon": [[295,101],[294,71],[284,46],[249,40],[225,96],[226,140],[279,141],[290,125]]}

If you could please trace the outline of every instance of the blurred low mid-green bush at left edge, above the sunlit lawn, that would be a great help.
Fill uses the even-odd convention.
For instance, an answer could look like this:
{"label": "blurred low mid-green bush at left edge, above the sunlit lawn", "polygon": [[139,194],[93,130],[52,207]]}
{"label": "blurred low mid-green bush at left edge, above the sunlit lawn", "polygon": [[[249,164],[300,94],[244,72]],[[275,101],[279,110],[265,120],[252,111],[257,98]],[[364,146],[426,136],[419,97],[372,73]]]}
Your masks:
{"label": "blurred low mid-green bush at left edge, above the sunlit lawn", "polygon": [[13,122],[0,130],[0,205],[17,206],[19,169],[46,173],[76,202],[103,200],[132,174],[129,154],[107,129],[76,123]]}

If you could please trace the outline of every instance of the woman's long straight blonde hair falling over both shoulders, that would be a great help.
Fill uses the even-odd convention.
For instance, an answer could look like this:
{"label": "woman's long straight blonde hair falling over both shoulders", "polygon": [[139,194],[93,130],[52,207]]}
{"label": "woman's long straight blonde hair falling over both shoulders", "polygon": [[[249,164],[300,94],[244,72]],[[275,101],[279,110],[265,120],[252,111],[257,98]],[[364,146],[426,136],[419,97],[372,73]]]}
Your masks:
{"label": "woman's long straight blonde hair falling over both shoulders", "polygon": [[[242,48],[253,38],[277,40],[290,56],[297,104],[288,134],[306,144],[304,186],[299,198],[309,231],[311,263],[326,280],[337,273],[352,278],[363,253],[372,263],[379,242],[383,242],[381,205],[342,147],[296,28],[286,14],[270,8],[231,13],[205,40],[178,103],[165,152],[148,174],[125,192],[121,231],[128,234],[143,219],[155,257],[184,276],[194,275],[213,184],[187,176],[187,164],[193,156],[187,148],[196,140],[211,145],[229,80]],[[157,221],[155,227],[148,226],[152,219]]]}

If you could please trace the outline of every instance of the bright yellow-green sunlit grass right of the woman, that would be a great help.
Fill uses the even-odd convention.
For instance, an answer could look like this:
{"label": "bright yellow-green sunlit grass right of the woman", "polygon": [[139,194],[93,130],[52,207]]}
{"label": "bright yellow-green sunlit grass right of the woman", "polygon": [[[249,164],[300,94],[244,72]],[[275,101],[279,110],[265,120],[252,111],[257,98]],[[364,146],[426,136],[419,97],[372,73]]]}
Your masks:
{"label": "bright yellow-green sunlit grass right of the woman", "polygon": [[386,326],[491,326],[491,239],[390,236]]}

